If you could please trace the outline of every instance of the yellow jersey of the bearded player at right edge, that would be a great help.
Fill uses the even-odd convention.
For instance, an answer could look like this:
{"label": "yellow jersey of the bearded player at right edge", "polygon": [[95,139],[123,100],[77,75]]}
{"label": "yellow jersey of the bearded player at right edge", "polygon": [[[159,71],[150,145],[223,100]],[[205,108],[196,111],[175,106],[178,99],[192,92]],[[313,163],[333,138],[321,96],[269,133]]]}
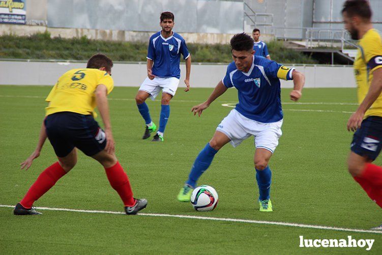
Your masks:
{"label": "yellow jersey of the bearded player at right edge", "polygon": [[[378,68],[382,68],[382,41],[378,31],[370,29],[359,41],[357,57],[354,62],[359,103],[365,99],[373,79],[373,71]],[[369,116],[382,117],[382,94],[365,112],[365,118]]]}

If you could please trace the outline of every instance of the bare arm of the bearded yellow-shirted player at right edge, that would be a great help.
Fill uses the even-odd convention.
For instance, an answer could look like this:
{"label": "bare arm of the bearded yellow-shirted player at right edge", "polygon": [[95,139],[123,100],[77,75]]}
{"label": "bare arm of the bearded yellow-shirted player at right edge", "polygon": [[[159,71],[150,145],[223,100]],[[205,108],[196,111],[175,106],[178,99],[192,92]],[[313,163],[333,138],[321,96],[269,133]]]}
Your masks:
{"label": "bare arm of the bearded yellow-shirted player at right edge", "polygon": [[380,93],[382,93],[382,68],[378,68],[373,71],[373,79],[371,80],[370,88],[365,99],[362,101],[356,112],[352,114],[347,121],[348,131],[356,131],[361,127],[365,112],[379,97]]}

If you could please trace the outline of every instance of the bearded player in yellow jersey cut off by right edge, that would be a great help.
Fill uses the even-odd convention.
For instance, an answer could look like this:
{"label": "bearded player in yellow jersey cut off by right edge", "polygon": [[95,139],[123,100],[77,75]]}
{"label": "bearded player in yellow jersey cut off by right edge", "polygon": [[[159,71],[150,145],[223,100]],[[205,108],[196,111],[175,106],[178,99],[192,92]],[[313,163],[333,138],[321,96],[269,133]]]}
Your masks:
{"label": "bearded player in yellow jersey cut off by right edge", "polygon": [[373,29],[368,1],[346,1],[342,15],[351,38],[359,39],[354,71],[360,106],[347,122],[347,130],[355,131],[347,165],[349,173],[382,207],[382,167],[371,163],[382,147],[382,40]]}

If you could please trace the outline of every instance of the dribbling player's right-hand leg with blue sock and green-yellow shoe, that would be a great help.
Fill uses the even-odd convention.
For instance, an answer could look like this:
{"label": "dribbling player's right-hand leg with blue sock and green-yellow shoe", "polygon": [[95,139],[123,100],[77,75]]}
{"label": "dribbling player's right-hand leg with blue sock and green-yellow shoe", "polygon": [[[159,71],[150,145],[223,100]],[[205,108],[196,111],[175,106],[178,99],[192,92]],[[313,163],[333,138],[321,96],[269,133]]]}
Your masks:
{"label": "dribbling player's right-hand leg with blue sock and green-yellow shoe", "polygon": [[256,169],[256,180],[259,188],[259,206],[261,212],[272,212],[270,188],[272,173],[268,166],[272,152],[264,148],[256,148],[253,161]]}

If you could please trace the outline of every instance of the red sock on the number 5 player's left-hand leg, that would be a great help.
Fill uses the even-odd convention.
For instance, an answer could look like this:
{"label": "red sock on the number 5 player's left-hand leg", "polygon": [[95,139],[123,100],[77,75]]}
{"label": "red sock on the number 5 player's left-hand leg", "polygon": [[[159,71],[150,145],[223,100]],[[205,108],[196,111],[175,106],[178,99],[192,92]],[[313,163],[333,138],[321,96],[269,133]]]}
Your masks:
{"label": "red sock on the number 5 player's left-hand leg", "polygon": [[36,182],[26,192],[20,204],[25,208],[31,208],[33,203],[45,194],[53,185],[66,175],[60,163],[55,162],[46,168],[37,178]]}

